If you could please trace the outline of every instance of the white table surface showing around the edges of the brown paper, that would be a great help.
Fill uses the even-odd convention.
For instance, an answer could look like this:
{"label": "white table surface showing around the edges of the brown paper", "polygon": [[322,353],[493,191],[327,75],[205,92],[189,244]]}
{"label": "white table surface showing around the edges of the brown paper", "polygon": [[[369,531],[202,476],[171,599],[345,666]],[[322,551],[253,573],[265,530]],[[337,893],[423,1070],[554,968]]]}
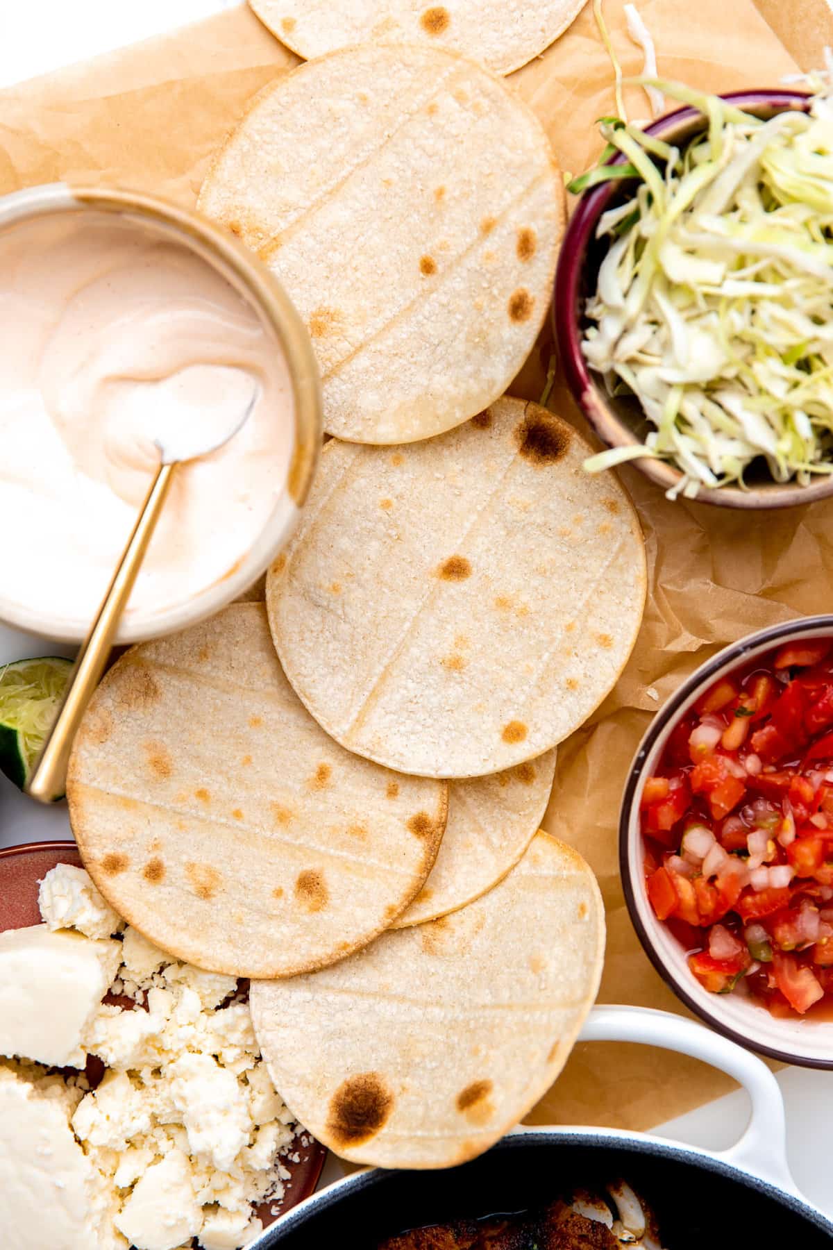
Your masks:
{"label": "white table surface showing around the edges of the brown paper", "polygon": [[[141,0],[129,5],[122,0],[74,0],[71,4],[67,0],[41,4],[0,0],[0,88],[196,21],[234,2]],[[42,639],[0,626],[0,662],[56,652],[71,654]],[[40,808],[0,776],[0,846],[69,836],[65,804]],[[833,1165],[828,1154],[833,1072],[793,1068],[781,1072],[778,1081],[787,1102],[793,1175],[811,1201],[833,1218]],[[738,1092],[654,1131],[692,1145],[721,1149],[739,1135],[746,1119],[747,1099]],[[335,1179],[336,1175],[337,1166],[330,1165],[326,1176]]]}

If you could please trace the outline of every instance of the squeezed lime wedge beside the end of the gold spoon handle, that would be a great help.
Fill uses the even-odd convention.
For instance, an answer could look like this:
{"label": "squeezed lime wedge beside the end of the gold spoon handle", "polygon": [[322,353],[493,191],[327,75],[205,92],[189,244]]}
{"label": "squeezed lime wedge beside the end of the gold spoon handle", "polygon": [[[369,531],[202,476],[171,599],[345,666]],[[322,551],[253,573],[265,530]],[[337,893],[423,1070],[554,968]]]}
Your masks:
{"label": "squeezed lime wedge beside the end of the gold spoon handle", "polygon": [[55,720],[72,668],[57,655],[0,665],[0,770],[21,790]]}

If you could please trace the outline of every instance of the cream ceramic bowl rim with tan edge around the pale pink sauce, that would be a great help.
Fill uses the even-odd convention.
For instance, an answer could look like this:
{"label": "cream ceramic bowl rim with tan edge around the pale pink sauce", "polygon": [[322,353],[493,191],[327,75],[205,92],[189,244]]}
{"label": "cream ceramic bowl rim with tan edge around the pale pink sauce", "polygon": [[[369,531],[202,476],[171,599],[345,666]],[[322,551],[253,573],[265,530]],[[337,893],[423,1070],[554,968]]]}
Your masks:
{"label": "cream ceramic bowl rim with tan edge around the pale pink sauce", "polygon": [[[295,428],[286,489],[280,495],[260,538],[222,580],[186,602],[126,618],[117,642],[137,642],[185,629],[231,602],[266,571],[286,544],[310,490],[321,448],[321,388],[312,344],[288,296],[257,256],[231,235],[196,212],[145,195],[104,188],[52,182],[0,198],[0,230],[36,216],[66,212],[116,212],[141,221],[160,238],[195,251],[246,299],[280,342],[288,366],[295,400]],[[49,614],[4,599],[0,621],[62,642],[80,642],[90,621],[67,620],[61,604]]]}

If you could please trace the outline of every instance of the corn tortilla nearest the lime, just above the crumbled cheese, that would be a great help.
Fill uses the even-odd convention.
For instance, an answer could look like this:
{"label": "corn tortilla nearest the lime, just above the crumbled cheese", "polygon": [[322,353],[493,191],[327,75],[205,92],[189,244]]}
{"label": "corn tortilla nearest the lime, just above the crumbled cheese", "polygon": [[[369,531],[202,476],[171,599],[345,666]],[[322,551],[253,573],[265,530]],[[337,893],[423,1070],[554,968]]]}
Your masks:
{"label": "corn tortilla nearest the lime, just above the crumbled cheese", "polygon": [[84,865],[119,915],[235,976],[291,976],[375,938],[423,884],[447,812],[443,784],[327,738],[257,604],[122,656],[66,791]]}

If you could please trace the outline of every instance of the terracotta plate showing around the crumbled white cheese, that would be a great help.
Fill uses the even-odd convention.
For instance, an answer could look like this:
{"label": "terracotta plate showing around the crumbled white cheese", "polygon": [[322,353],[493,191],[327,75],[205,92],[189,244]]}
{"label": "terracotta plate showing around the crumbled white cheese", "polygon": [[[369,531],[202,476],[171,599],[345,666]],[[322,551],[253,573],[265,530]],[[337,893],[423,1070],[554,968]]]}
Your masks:
{"label": "terracotta plate showing around the crumbled white cheese", "polygon": [[[0,850],[0,932],[40,924],[37,888],[56,864],[81,864],[75,842],[29,842]],[[297,1162],[285,1160],[291,1176],[285,1182],[283,1198],[257,1208],[264,1228],[302,1202],[318,1184],[327,1155],[321,1142],[303,1132],[296,1139],[292,1154],[297,1155]]]}

